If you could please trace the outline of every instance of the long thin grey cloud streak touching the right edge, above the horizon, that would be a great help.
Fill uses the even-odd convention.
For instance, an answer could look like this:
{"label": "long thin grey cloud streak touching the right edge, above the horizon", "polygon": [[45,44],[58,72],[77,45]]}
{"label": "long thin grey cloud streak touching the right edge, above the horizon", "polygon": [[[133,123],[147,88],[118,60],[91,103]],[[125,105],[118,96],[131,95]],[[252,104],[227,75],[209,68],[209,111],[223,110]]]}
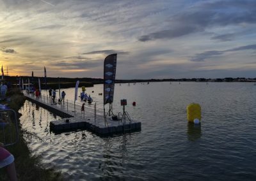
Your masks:
{"label": "long thin grey cloud streak touching the right edge, above the horizon", "polygon": [[192,61],[192,62],[204,62],[205,59],[209,59],[210,57],[225,54],[225,52],[236,52],[236,51],[241,51],[241,50],[256,50],[256,45],[246,45],[246,46],[231,48],[231,49],[222,50],[222,51],[217,51],[217,50],[205,51],[203,53],[196,54],[194,57],[192,57],[190,59],[190,61]]}

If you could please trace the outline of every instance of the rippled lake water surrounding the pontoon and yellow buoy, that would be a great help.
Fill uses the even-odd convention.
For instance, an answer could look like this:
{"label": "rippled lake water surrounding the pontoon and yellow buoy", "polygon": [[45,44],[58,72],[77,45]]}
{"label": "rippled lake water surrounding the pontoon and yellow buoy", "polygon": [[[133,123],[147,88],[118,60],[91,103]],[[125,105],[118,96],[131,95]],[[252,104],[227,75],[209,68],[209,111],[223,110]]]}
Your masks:
{"label": "rippled lake water surrounding the pontoon and yellow buoy", "polygon": [[[64,91],[74,99],[74,89]],[[102,103],[102,85],[87,92]],[[123,98],[141,131],[108,138],[89,131],[55,135],[49,122],[60,117],[26,101],[19,112],[29,147],[67,180],[256,180],[253,83],[116,84],[116,113]],[[186,120],[193,102],[202,106],[200,126]]]}

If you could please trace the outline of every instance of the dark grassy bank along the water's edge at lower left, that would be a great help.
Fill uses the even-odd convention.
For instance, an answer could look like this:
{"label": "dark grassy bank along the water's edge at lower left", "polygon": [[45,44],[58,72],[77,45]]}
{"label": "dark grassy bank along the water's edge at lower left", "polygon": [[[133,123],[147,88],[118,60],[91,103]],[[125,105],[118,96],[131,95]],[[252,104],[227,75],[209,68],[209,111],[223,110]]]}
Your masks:
{"label": "dark grassy bank along the water's edge at lower left", "polygon": [[[9,91],[8,96],[10,96],[10,101],[6,102],[6,104],[15,110],[19,118],[18,110],[24,104],[25,98],[18,89]],[[6,147],[15,157],[18,180],[63,180],[60,172],[55,171],[53,168],[43,168],[40,163],[40,157],[31,154],[24,140],[28,134],[28,131],[21,129],[19,123],[19,142],[13,146]],[[8,180],[4,168],[0,170],[0,180]]]}

